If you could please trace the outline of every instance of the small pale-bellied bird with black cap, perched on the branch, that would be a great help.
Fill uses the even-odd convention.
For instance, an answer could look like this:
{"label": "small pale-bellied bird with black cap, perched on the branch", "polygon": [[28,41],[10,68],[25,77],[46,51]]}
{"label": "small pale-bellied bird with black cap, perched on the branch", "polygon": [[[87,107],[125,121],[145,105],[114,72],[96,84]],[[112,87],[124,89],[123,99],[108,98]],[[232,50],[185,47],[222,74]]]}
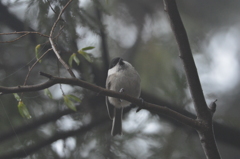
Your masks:
{"label": "small pale-bellied bird with black cap, perched on the branch", "polygon": [[[120,57],[111,60],[106,79],[106,89],[139,98],[141,79],[135,68]],[[131,103],[122,99],[106,96],[106,106],[112,120],[111,135],[122,135],[123,108]]]}

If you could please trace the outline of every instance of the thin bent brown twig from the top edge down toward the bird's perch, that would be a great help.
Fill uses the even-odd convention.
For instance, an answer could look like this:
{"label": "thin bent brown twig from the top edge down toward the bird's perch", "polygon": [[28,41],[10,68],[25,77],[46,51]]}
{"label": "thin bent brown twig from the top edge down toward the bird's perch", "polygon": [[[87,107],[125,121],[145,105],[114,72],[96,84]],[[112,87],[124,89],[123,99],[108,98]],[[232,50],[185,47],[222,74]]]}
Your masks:
{"label": "thin bent brown twig from the top edge down toward the bird's perch", "polygon": [[76,76],[74,75],[72,69],[63,61],[63,59],[62,59],[61,56],[59,55],[59,52],[58,52],[58,50],[57,50],[57,48],[56,48],[56,46],[55,46],[55,44],[54,44],[54,42],[53,42],[53,38],[52,38],[52,37],[53,37],[53,32],[54,32],[54,30],[55,30],[55,28],[56,28],[56,26],[57,26],[57,23],[58,23],[59,20],[61,19],[61,16],[62,16],[63,12],[65,11],[65,9],[67,8],[67,6],[68,6],[72,1],[73,1],[73,0],[69,0],[68,3],[63,7],[63,9],[61,10],[61,12],[59,13],[58,18],[57,18],[57,20],[54,22],[54,24],[53,24],[53,26],[52,26],[52,29],[51,29],[51,31],[50,31],[49,41],[50,41],[50,43],[51,43],[51,46],[52,46],[52,48],[53,48],[53,51],[54,51],[54,53],[56,54],[58,60],[62,63],[62,65],[63,65],[63,66],[65,67],[65,69],[69,72],[69,74],[70,74],[72,77],[75,77],[75,78],[76,78]]}

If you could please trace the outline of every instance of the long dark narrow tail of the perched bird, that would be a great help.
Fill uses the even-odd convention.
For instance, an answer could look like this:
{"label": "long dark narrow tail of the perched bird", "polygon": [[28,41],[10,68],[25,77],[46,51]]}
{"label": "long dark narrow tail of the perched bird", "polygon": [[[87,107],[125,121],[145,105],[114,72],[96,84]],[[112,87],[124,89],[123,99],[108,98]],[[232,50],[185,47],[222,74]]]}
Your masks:
{"label": "long dark narrow tail of the perched bird", "polygon": [[112,123],[112,136],[122,135],[122,112],[123,108],[114,108],[114,118]]}

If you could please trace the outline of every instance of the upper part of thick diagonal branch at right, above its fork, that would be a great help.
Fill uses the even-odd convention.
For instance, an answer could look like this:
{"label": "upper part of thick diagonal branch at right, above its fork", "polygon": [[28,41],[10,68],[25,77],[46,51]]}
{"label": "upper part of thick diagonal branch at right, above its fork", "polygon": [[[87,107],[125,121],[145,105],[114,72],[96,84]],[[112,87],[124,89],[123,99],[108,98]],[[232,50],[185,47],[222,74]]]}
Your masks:
{"label": "upper part of thick diagonal branch at right, above its fork", "polygon": [[183,61],[184,70],[186,72],[189,89],[191,91],[197,116],[198,118],[204,118],[206,115],[208,116],[209,111],[203,95],[186,30],[177,10],[175,0],[164,0],[164,2],[166,4],[165,10],[170,17],[172,30],[178,43],[180,50],[179,56]]}

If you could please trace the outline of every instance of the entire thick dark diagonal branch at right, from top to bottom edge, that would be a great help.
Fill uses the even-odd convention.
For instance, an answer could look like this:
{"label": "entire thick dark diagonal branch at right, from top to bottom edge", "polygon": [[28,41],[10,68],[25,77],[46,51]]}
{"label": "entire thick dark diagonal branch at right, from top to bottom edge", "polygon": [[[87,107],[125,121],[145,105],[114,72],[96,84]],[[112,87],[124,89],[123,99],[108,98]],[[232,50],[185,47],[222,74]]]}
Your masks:
{"label": "entire thick dark diagonal branch at right, from top to bottom edge", "polygon": [[220,159],[221,157],[213,133],[212,112],[208,108],[203,95],[197,68],[194,63],[186,30],[177,9],[177,4],[175,0],[164,0],[164,5],[165,10],[168,12],[172,30],[178,43],[180,58],[183,61],[198,120],[205,125],[203,129],[197,129],[202,147],[208,159]]}

